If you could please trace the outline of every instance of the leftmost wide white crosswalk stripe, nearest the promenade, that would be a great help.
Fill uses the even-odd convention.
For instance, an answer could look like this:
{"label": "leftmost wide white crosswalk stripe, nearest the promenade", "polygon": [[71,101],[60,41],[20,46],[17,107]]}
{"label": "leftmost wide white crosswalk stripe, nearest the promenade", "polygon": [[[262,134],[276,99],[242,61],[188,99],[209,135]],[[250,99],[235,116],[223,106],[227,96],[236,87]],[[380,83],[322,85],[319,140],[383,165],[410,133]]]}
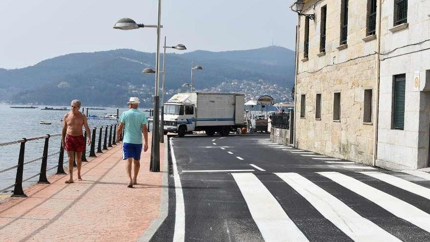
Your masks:
{"label": "leftmost wide white crosswalk stripe, nearest the promenade", "polygon": [[236,180],[264,241],[308,242],[308,239],[257,176],[251,173],[236,173],[232,176]]}

